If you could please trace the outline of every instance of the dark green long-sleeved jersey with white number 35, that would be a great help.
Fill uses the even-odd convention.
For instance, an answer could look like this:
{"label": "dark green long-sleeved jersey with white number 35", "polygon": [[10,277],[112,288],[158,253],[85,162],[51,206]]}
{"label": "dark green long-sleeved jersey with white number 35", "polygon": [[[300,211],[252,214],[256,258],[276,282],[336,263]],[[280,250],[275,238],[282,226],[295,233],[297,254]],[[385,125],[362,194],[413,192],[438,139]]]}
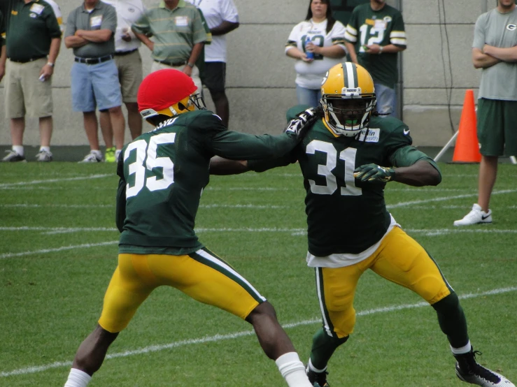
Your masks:
{"label": "dark green long-sleeved jersey with white number 35", "polygon": [[297,145],[294,133],[253,136],[229,131],[208,110],[168,119],[122,149],[117,174],[119,251],[181,255],[203,245],[194,233],[201,193],[214,155],[276,158]]}

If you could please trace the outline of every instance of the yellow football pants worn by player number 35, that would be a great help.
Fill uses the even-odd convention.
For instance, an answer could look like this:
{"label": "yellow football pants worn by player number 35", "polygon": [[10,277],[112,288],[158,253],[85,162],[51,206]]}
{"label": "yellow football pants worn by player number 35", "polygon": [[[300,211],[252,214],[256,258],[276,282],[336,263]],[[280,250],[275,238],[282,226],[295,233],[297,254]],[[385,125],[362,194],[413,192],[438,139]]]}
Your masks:
{"label": "yellow football pants worn by player number 35", "polygon": [[172,286],[199,302],[246,319],[266,299],[230,265],[200,249],[182,256],[119,254],[99,325],[111,333],[126,328],[136,309],[158,286]]}

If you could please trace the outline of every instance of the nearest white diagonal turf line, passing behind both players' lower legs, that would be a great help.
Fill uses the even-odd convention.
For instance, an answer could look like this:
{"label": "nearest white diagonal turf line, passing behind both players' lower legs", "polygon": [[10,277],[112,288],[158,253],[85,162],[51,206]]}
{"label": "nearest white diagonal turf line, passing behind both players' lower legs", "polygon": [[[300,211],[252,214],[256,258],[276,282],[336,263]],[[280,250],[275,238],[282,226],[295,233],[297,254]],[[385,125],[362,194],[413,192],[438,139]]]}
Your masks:
{"label": "nearest white diagonal turf line, passing behind both players' lower legs", "polygon": [[[485,295],[497,295],[497,294],[509,293],[512,291],[517,291],[517,287],[493,289],[491,291],[484,291],[482,293],[467,293],[464,295],[460,295],[459,298],[460,299],[479,298],[479,297],[483,297]],[[406,304],[406,305],[392,305],[389,307],[367,309],[362,312],[357,312],[357,316],[369,316],[371,314],[384,313],[384,312],[395,312],[395,311],[403,310],[403,309],[414,309],[414,308],[426,307],[426,306],[429,306],[429,304],[427,302],[417,302],[416,304]],[[284,324],[283,328],[295,328],[297,326],[306,326],[306,325],[311,325],[313,323],[320,323],[320,322],[321,322],[321,319],[304,320],[304,321],[298,321],[296,323]],[[191,345],[191,344],[204,344],[207,342],[220,342],[222,340],[236,339],[239,337],[251,336],[251,335],[255,335],[255,332],[253,330],[245,330],[242,332],[229,333],[227,335],[213,335],[213,336],[200,337],[197,339],[180,340],[178,342],[171,342],[169,344],[151,345],[151,346],[145,346],[145,347],[139,348],[139,349],[133,349],[130,351],[110,353],[106,356],[106,359],[126,358],[127,356],[134,356],[134,355],[141,355],[144,353],[163,351],[164,349],[177,348],[178,346],[185,346],[185,345]],[[31,366],[31,367],[19,368],[17,370],[13,370],[13,371],[0,372],[0,377],[13,377],[13,376],[17,376],[17,375],[34,374],[36,372],[43,372],[46,370],[51,370],[52,368],[70,367],[71,365],[72,365],[71,361],[55,362],[55,363],[50,363],[47,365],[35,365],[35,366]]]}

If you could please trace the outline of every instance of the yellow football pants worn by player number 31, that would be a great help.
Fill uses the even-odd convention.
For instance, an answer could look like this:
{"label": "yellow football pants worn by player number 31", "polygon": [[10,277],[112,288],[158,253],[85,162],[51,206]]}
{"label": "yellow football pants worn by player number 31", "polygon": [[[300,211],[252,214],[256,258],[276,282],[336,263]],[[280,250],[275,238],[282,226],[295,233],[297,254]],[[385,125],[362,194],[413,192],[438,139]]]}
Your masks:
{"label": "yellow football pants worn by player number 31", "polygon": [[316,268],[323,325],[329,335],[342,338],[353,333],[355,289],[367,269],[411,289],[430,305],[452,291],[437,263],[425,249],[399,227],[395,227],[385,236],[374,254],[364,261],[343,268]]}

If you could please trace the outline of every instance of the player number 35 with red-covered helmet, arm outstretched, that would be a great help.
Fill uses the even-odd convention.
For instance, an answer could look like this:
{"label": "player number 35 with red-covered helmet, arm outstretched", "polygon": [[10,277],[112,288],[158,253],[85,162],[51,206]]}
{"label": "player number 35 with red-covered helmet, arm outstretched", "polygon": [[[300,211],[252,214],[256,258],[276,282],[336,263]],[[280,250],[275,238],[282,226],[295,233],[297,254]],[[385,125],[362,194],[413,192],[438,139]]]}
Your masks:
{"label": "player number 35 with red-covered helmet, arm outstretched", "polygon": [[290,152],[316,119],[306,110],[279,136],[228,131],[204,109],[192,78],[156,71],[138,93],[143,118],[155,126],[122,149],[116,222],[122,233],[118,267],[104,296],[97,328],[80,344],[66,387],[85,387],[108,347],[158,286],[224,309],[253,325],[262,349],[290,387],[311,387],[303,363],[274,308],[194,233],[211,157],[275,158]]}

